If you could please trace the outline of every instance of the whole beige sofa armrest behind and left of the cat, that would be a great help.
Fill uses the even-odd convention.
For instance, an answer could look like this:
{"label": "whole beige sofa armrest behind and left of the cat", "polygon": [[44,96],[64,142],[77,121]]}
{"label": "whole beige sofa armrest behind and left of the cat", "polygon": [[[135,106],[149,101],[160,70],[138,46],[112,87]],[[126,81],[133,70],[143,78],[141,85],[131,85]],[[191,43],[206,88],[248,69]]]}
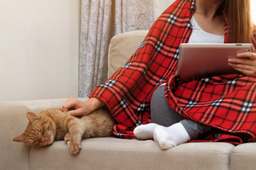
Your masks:
{"label": "whole beige sofa armrest behind and left of the cat", "polygon": [[27,112],[39,114],[48,108],[60,108],[67,99],[0,102],[0,169],[30,169],[31,147],[12,139],[26,129]]}

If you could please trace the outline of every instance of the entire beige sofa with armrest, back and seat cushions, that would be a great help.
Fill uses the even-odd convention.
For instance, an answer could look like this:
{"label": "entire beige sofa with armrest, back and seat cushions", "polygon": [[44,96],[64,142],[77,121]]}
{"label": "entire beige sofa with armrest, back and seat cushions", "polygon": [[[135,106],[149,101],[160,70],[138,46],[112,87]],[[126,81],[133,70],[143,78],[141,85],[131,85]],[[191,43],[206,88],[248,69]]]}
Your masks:
{"label": "entire beige sofa with armrest, back and seat cushions", "polygon": [[[110,43],[110,74],[121,67],[147,31],[116,35]],[[102,137],[82,140],[78,155],[64,141],[31,148],[12,138],[26,128],[26,112],[59,108],[67,98],[0,103],[0,169],[256,169],[256,144],[186,143],[162,150],[151,140]],[[86,98],[80,98],[86,100]]]}

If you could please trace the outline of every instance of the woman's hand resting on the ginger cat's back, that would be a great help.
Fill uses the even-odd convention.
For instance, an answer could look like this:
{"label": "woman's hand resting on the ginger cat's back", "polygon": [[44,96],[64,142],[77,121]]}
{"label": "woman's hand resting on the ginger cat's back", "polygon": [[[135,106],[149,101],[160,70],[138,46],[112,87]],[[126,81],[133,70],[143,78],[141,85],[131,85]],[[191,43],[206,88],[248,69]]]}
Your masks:
{"label": "woman's hand resting on the ginger cat's back", "polygon": [[[105,103],[97,98],[90,98],[87,101],[79,101],[76,98],[68,98],[68,101],[66,101],[60,107],[60,109],[68,112],[70,115],[88,115],[104,105]],[[70,108],[73,108],[74,110],[69,111]]]}

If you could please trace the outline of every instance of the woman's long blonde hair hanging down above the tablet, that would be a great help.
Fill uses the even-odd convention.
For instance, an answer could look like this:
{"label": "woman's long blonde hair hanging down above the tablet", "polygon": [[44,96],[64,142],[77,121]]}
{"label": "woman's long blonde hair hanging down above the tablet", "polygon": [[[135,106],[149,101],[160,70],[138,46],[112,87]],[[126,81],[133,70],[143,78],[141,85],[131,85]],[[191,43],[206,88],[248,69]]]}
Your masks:
{"label": "woman's long blonde hair hanging down above the tablet", "polygon": [[228,18],[228,42],[252,42],[253,22],[250,0],[225,0],[223,5]]}

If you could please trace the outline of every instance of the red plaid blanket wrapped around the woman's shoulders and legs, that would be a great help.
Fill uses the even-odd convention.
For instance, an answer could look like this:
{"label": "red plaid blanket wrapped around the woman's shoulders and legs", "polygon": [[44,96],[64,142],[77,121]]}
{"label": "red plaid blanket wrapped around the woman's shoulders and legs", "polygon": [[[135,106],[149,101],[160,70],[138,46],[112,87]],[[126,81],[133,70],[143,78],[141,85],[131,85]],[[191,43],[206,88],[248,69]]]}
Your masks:
{"label": "red plaid blanket wrapped around the woman's shoulders and legs", "polygon": [[[117,120],[113,130],[117,137],[135,138],[132,130],[151,122],[151,94],[167,82],[166,99],[172,108],[186,118],[223,130],[206,140],[238,144],[242,142],[240,137],[231,134],[243,133],[255,141],[256,75],[210,77],[180,84],[174,74],[178,47],[191,35],[194,10],[195,0],[174,2],[153,24],[129,61],[92,92],[90,97],[104,101]],[[255,38],[252,42],[255,45]]]}

